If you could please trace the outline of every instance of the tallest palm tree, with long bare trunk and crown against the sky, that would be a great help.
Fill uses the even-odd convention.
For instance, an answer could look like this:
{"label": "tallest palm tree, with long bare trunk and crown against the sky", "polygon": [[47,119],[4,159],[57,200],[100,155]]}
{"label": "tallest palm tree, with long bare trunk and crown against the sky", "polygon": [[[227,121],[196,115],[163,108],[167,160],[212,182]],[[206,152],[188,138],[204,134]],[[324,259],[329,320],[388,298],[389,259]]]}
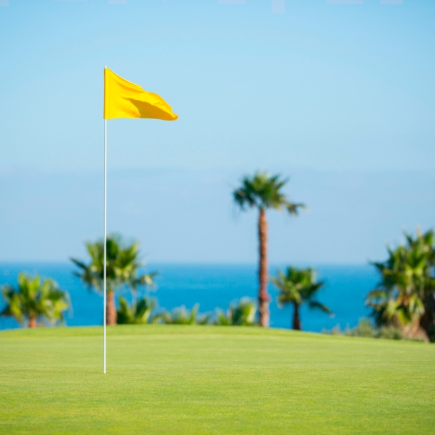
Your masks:
{"label": "tallest palm tree, with long bare trunk and crown against the sky", "polygon": [[269,295],[267,294],[267,220],[266,210],[273,208],[275,210],[287,210],[290,215],[297,215],[303,204],[290,203],[287,200],[282,188],[287,183],[286,180],[280,180],[280,175],[270,177],[267,173],[257,172],[253,177],[244,177],[241,180],[240,188],[236,189],[232,195],[235,203],[240,206],[241,210],[257,208],[258,215],[258,240],[260,260],[258,268],[259,290],[258,290],[258,307],[260,312],[260,326],[269,326]]}

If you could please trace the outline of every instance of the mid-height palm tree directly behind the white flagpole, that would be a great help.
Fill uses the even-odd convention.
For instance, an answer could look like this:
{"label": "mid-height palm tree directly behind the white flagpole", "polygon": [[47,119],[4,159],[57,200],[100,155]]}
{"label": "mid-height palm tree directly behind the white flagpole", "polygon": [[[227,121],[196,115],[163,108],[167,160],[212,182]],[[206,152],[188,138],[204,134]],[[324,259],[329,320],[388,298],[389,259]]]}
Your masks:
{"label": "mid-height palm tree directly behind the white flagpole", "polygon": [[[109,235],[106,247],[106,324],[113,325],[116,324],[116,290],[127,287],[135,295],[138,287],[153,286],[156,273],[140,275],[140,267],[143,267],[145,262],[140,260],[138,242],[127,245],[120,235]],[[91,262],[86,264],[71,258],[80,269],[80,272],[74,272],[74,275],[80,277],[90,290],[102,292],[104,243],[102,240],[95,243],[87,242],[86,249]]]}

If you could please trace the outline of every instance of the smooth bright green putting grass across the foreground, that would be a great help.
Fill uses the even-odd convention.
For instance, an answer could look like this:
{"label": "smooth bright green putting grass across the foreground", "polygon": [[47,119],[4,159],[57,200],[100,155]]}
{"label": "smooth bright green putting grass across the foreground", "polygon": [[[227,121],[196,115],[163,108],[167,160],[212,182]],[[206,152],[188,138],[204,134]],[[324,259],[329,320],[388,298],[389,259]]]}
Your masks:
{"label": "smooth bright green putting grass across the foreground", "polygon": [[434,434],[435,346],[255,327],[0,332],[0,433]]}

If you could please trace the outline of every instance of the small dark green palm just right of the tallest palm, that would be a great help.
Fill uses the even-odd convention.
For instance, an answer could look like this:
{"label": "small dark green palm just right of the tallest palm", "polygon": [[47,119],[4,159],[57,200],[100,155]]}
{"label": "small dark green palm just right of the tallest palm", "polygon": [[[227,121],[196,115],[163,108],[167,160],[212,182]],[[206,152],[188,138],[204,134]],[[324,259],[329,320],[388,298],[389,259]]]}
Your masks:
{"label": "small dark green palm just right of the tallest palm", "polygon": [[277,277],[270,280],[280,290],[278,295],[278,305],[293,305],[293,329],[301,330],[300,307],[307,303],[309,308],[320,309],[327,314],[332,314],[331,310],[315,299],[316,293],[324,286],[324,282],[317,282],[314,270],[297,269],[297,267],[287,267],[284,274],[278,270]]}

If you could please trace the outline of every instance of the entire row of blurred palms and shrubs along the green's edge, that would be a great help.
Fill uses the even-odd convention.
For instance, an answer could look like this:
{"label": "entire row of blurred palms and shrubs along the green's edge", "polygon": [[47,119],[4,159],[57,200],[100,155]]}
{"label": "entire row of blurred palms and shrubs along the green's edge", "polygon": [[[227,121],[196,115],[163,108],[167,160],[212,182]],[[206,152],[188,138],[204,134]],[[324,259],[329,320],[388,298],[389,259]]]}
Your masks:
{"label": "entire row of blurred palms and shrubs along the green's edge", "polygon": [[[292,327],[302,329],[300,307],[332,314],[329,307],[317,300],[317,294],[324,282],[318,281],[312,268],[288,266],[270,277],[267,262],[267,210],[284,210],[290,215],[298,215],[305,208],[302,203],[291,202],[283,188],[288,179],[280,175],[267,175],[257,172],[240,180],[240,186],[232,193],[232,198],[240,210],[254,208],[258,213],[258,295],[257,303],[242,298],[238,304],[231,304],[226,311],[217,309],[215,314],[199,314],[198,305],[193,309],[178,307],[171,312],[156,312],[153,298],[137,299],[138,290],[153,288],[156,273],[142,273],[145,262],[140,259],[138,242],[125,243],[119,235],[107,239],[106,322],[109,325],[126,323],[178,323],[178,324],[270,324],[269,282],[275,285],[279,294],[277,303],[292,305]],[[395,249],[387,247],[388,258],[372,265],[379,272],[377,288],[367,295],[366,305],[371,309],[375,327],[398,329],[401,337],[421,338],[435,341],[435,246],[434,231],[416,236],[405,234],[406,243]],[[90,289],[103,290],[103,242],[88,242],[88,262],[71,259],[77,269],[74,274]],[[123,297],[115,295],[118,290],[128,289],[132,295],[131,305]],[[5,285],[2,295],[6,307],[0,313],[12,316],[21,324],[35,327],[36,322],[63,321],[64,312],[71,305],[68,293],[59,289],[53,280],[42,281],[40,277],[29,277],[21,273],[18,286]],[[258,315],[257,315],[258,314]],[[356,334],[356,332],[355,332]],[[374,334],[373,336],[376,336]]]}

